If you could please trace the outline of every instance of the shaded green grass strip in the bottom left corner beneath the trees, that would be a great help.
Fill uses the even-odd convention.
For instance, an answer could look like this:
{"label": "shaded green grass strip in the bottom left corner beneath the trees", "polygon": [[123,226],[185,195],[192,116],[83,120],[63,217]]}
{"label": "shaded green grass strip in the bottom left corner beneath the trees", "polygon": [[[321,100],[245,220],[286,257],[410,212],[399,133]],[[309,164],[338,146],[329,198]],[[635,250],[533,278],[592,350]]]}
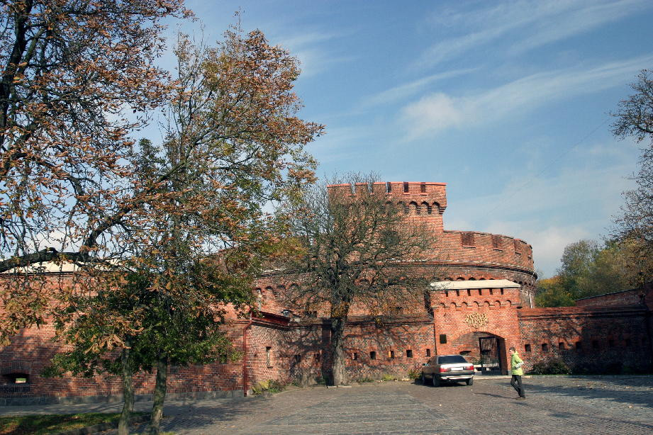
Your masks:
{"label": "shaded green grass strip in the bottom left corner beneath the trees", "polygon": [[[133,412],[132,417],[145,415],[147,412]],[[2,435],[45,435],[57,432],[94,426],[101,423],[118,423],[120,414],[113,412],[89,412],[88,414],[45,414],[45,415],[10,415],[0,417],[0,434]]]}

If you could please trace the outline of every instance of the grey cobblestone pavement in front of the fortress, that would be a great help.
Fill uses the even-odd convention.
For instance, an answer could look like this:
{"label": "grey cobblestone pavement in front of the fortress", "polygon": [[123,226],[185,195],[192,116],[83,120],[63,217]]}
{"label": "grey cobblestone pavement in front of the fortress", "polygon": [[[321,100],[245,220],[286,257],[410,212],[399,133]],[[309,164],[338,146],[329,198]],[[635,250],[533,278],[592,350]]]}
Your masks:
{"label": "grey cobblestone pavement in front of the fortress", "polygon": [[508,379],[477,378],[472,386],[370,383],[237,402],[170,401],[162,429],[194,435],[653,433],[651,376],[534,377],[525,379],[525,388],[526,400],[515,400]]}

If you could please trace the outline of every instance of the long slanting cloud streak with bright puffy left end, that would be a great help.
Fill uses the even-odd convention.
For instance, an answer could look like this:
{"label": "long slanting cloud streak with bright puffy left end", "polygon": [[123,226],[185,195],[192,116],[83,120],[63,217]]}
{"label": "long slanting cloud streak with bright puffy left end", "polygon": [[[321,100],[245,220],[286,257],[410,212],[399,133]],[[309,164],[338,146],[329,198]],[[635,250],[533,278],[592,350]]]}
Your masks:
{"label": "long slanting cloud streak with bright puffy left end", "polygon": [[403,107],[400,119],[408,139],[488,123],[515,112],[525,113],[554,101],[622,85],[651,62],[653,56],[647,55],[589,69],[542,72],[471,96],[430,94]]}

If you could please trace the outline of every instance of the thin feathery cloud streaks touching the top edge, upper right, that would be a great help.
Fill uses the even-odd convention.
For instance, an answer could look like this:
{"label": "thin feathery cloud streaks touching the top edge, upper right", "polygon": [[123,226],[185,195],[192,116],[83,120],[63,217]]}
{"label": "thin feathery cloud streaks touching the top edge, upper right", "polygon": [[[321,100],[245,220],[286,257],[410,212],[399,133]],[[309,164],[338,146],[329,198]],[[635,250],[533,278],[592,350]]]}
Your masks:
{"label": "thin feathery cloud streaks touching the top edge, upper right", "polygon": [[[502,2],[474,12],[441,11],[442,16],[435,18],[438,28],[460,26],[467,32],[432,45],[415,62],[415,66],[431,67],[443,60],[465,55],[470,50],[497,45],[504,36],[505,51],[515,55],[585,33],[603,23],[617,21],[651,6],[648,0],[529,0]],[[518,38],[508,38],[516,32],[520,33]]]}

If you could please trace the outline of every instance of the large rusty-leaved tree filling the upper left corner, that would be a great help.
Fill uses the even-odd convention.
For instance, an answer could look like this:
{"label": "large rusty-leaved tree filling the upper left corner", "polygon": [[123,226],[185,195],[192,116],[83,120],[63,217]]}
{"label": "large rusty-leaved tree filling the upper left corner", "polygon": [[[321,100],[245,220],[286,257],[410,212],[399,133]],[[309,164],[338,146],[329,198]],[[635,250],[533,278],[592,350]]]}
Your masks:
{"label": "large rusty-leaved tree filling the upper left corner", "polygon": [[[160,21],[188,15],[182,0],[1,2],[1,269],[57,259],[52,246],[87,261],[113,208],[130,208],[130,133],[169,91]],[[1,343],[43,322],[36,281],[1,290]]]}

